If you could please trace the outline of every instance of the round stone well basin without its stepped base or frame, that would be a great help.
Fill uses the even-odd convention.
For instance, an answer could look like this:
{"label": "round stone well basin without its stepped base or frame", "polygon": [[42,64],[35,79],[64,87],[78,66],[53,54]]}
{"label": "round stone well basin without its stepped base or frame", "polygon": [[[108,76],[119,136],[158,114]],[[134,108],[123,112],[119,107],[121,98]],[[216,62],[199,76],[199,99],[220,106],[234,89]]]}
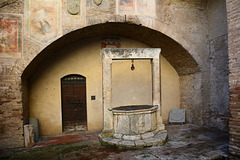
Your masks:
{"label": "round stone well basin without its stepped base or frame", "polygon": [[157,129],[157,106],[139,105],[113,108],[114,137],[143,139],[141,135]]}

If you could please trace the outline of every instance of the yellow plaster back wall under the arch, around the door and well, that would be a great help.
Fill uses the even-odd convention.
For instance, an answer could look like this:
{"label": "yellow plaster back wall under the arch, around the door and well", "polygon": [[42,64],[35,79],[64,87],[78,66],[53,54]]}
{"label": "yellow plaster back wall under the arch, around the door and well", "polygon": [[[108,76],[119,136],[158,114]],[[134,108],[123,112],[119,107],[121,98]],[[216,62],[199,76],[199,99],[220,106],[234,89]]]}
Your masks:
{"label": "yellow plaster back wall under the arch, around the door and well", "polygon": [[[40,134],[62,133],[61,82],[68,74],[86,77],[87,126],[88,130],[101,130],[102,106],[102,62],[100,60],[100,38],[79,41],[66,47],[57,56],[46,60],[30,79],[30,117],[39,118]],[[148,48],[149,46],[122,38],[122,48]],[[113,63],[112,105],[152,103],[152,74],[149,60],[115,61]],[[163,120],[168,120],[169,110],[179,106],[179,76],[173,67],[161,57]],[[96,100],[91,100],[95,95]]]}

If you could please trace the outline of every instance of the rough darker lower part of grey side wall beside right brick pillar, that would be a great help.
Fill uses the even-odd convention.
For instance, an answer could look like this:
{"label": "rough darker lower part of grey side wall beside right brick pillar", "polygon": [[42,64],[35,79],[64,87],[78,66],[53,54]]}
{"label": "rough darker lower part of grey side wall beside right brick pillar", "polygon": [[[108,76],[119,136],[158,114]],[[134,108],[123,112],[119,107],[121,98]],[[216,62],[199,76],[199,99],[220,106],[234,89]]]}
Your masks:
{"label": "rough darker lower part of grey side wall beside right brick pillar", "polygon": [[228,131],[229,83],[227,35],[210,40],[211,107],[209,126]]}

